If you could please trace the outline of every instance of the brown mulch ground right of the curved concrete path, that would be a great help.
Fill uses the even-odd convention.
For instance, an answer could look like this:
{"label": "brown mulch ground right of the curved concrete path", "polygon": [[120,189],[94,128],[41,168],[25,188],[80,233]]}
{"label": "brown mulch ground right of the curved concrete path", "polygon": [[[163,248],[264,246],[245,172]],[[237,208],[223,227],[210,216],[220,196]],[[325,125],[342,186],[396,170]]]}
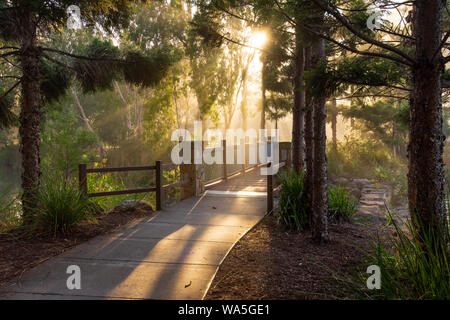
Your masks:
{"label": "brown mulch ground right of the curved concrete path", "polygon": [[[266,217],[234,247],[220,267],[207,300],[345,299],[339,277],[365,272],[363,259],[379,226],[330,225],[330,242],[317,245]],[[363,270],[364,267],[364,270]],[[353,270],[353,271],[352,271]]]}

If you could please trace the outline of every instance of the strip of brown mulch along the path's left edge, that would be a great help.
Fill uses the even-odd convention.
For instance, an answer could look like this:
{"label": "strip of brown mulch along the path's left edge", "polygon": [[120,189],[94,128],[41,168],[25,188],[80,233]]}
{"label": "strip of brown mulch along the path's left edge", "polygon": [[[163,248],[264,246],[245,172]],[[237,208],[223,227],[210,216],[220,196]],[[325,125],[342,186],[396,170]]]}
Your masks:
{"label": "strip of brown mulch along the path's left edge", "polygon": [[66,235],[36,235],[15,229],[0,234],[0,286],[36,265],[96,236],[111,233],[153,214],[147,206],[116,209],[96,216]]}

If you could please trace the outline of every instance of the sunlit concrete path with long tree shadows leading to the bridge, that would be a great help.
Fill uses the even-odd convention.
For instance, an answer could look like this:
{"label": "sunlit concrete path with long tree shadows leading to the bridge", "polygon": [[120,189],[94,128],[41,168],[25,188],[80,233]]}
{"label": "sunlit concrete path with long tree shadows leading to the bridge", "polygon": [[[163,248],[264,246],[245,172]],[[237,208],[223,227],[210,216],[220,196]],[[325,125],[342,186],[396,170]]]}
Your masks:
{"label": "sunlit concrete path with long tree shadows leading to the bridge", "polygon": [[[261,195],[206,193],[37,266],[0,288],[0,299],[202,299],[265,211]],[[80,290],[67,288],[71,265]]]}

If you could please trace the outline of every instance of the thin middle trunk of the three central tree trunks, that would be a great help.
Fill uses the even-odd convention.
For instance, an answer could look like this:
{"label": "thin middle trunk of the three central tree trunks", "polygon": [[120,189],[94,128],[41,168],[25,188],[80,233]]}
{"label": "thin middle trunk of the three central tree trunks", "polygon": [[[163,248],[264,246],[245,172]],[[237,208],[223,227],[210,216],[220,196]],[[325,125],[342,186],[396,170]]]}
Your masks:
{"label": "thin middle trunk of the three central tree trunks", "polygon": [[[305,48],[305,70],[311,69],[312,59],[311,46]],[[313,190],[314,190],[314,101],[309,89],[306,90],[306,113],[305,113],[305,153],[306,153],[306,205],[310,216],[313,211]]]}

